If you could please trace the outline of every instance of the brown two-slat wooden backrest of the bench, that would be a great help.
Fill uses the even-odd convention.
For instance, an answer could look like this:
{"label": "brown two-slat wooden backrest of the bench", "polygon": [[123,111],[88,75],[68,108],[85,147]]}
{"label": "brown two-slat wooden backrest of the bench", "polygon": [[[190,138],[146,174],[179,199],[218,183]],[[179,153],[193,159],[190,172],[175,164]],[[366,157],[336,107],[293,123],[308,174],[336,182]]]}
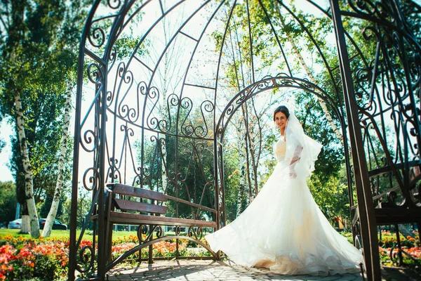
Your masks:
{"label": "brown two-slat wooden backrest of the bench", "polygon": [[[143,188],[135,188],[131,185],[123,185],[121,183],[109,183],[107,187],[114,195],[126,195],[130,197],[143,198],[147,200],[156,200],[166,202],[167,198],[161,192],[147,190]],[[168,207],[149,202],[138,202],[126,199],[120,199],[113,196],[113,204],[117,209],[123,211],[141,211],[153,214],[166,214]]]}

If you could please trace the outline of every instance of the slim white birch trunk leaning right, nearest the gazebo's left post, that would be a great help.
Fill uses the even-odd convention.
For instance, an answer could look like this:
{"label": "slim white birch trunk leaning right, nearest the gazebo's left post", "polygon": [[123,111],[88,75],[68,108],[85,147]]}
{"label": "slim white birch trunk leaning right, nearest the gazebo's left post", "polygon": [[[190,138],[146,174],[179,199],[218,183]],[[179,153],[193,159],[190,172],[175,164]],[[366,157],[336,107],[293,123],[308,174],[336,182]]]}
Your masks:
{"label": "slim white birch trunk leaning right, nearest the gazebo's left post", "polygon": [[50,211],[48,212],[46,223],[44,225],[44,231],[42,232],[42,235],[44,237],[50,237],[51,235],[51,230],[53,229],[55,216],[57,215],[58,204],[60,203],[60,197],[62,194],[67,143],[69,141],[70,110],[72,110],[72,88],[73,88],[73,84],[72,84],[72,81],[69,79],[69,81],[67,82],[67,96],[66,96],[66,104],[65,104],[63,134],[61,138],[60,157],[58,158],[57,183],[55,183],[53,202],[51,203],[51,208],[50,208]]}

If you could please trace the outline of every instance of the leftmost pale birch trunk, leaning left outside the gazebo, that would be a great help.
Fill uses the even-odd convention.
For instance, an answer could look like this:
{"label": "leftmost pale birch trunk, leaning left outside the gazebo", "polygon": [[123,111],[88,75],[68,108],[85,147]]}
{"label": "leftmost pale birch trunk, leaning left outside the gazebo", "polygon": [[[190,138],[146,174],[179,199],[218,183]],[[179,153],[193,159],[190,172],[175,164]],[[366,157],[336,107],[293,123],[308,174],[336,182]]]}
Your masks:
{"label": "leftmost pale birch trunk, leaning left outside the gazebo", "polygon": [[20,155],[22,157],[23,171],[25,173],[25,197],[29,213],[29,222],[31,225],[31,236],[38,238],[39,221],[36,214],[36,206],[34,200],[34,186],[32,181],[32,169],[29,163],[29,152],[27,140],[25,136],[25,127],[23,122],[22,103],[20,102],[20,93],[15,93],[15,110],[16,110],[16,129],[18,129],[18,141],[20,144]]}

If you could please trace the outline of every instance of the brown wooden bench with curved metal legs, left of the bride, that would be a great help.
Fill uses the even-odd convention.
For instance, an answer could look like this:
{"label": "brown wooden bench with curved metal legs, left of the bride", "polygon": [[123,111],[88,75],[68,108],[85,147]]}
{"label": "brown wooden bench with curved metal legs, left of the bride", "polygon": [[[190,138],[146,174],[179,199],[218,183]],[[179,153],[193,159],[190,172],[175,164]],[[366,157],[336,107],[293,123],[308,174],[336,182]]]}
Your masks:
{"label": "brown wooden bench with curved metal legs, left of the bride", "polygon": [[[105,197],[105,220],[107,223],[106,226],[106,244],[108,252],[106,254],[106,260],[111,261],[112,256],[112,228],[114,224],[128,224],[128,225],[137,225],[138,228],[138,238],[140,244],[149,244],[149,263],[152,263],[152,244],[154,240],[153,233],[158,232],[158,236],[162,235],[161,226],[175,226],[176,232],[175,236],[168,236],[169,239],[188,239],[193,240],[194,242],[201,244],[203,247],[208,249],[208,251],[215,256],[215,253],[211,251],[205,244],[200,242],[200,237],[196,236],[196,230],[194,228],[200,228],[199,233],[201,234],[201,228],[216,228],[216,222],[214,221],[200,221],[187,218],[171,218],[163,216],[166,214],[168,207],[164,206],[163,203],[167,202],[168,199],[175,200],[181,203],[189,204],[194,207],[201,207],[202,209],[208,209],[214,211],[213,209],[201,206],[199,204],[194,204],[192,202],[181,200],[170,195],[164,195],[161,192],[156,192],[152,190],[146,190],[143,188],[135,188],[131,185],[123,185],[121,183],[109,183],[107,184],[106,197]],[[189,228],[189,237],[180,237],[180,226]],[[146,234],[145,228],[149,227],[149,235],[146,239],[142,238],[142,234]],[[143,228],[143,229],[142,229]],[[190,235],[192,233],[193,235]],[[193,237],[191,237],[193,236]],[[158,238],[159,238],[158,237]],[[156,242],[158,242],[158,239]],[[165,240],[165,237],[159,239]],[[123,259],[123,258],[121,258]],[[120,261],[114,262],[115,264]],[[112,264],[114,266],[115,264]],[[112,268],[111,266],[111,268]]]}

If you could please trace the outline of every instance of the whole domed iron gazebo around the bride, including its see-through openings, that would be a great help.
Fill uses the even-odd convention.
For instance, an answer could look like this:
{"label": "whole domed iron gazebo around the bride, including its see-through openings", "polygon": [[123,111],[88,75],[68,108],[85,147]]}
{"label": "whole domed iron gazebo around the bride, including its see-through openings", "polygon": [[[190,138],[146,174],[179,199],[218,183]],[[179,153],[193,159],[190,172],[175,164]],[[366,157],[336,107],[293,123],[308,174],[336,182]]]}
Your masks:
{"label": "whole domed iron gazebo around the bride, including its see-through openings", "polygon": [[[377,226],[399,235],[421,223],[420,12],[399,0],[94,1],[79,53],[69,280],[105,280],[124,258],[107,256],[110,185],[163,195],[168,224],[140,223],[131,250],[149,248],[149,261],[182,226],[199,244],[203,228],[225,226],[232,118],[286,89],[311,93],[342,141],[354,243],[380,280]],[[88,227],[92,246],[81,247]]]}

